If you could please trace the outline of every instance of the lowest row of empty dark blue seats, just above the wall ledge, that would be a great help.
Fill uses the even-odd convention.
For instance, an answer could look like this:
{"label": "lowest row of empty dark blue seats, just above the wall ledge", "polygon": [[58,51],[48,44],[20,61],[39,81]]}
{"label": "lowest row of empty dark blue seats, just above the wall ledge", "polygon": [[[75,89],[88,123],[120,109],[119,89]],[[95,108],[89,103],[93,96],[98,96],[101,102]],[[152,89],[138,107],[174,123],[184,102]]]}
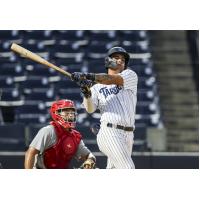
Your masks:
{"label": "lowest row of empty dark blue seats, just above the wall ledge", "polygon": [[[0,125],[0,151],[25,151],[38,131],[47,125],[47,123],[39,125],[32,123],[26,126],[25,123]],[[86,146],[92,152],[98,152],[96,136],[92,133],[91,128],[78,125],[77,130],[82,134]],[[134,148],[136,148],[136,151],[137,149],[140,151],[145,150],[146,126],[144,124],[136,126],[134,135]]]}

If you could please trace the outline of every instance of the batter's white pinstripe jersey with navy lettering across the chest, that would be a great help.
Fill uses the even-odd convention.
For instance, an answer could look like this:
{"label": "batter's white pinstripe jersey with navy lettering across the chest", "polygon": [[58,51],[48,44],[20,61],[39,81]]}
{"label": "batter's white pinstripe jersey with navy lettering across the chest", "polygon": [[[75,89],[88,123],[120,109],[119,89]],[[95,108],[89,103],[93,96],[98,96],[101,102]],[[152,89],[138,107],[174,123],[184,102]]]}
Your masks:
{"label": "batter's white pinstripe jersey with navy lettering across the chest", "polygon": [[122,71],[119,75],[124,80],[122,87],[96,84],[91,88],[92,101],[102,114],[101,123],[135,127],[138,77],[130,69]]}

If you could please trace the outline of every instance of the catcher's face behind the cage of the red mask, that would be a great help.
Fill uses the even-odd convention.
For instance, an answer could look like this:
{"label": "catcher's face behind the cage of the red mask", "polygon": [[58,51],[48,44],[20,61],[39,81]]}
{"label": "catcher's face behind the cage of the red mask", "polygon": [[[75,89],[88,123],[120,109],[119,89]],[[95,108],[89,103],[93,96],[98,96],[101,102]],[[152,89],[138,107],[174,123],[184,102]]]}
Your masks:
{"label": "catcher's face behind the cage of the red mask", "polygon": [[75,122],[76,121],[76,112],[73,108],[64,108],[58,110],[58,114],[66,121],[66,122]]}

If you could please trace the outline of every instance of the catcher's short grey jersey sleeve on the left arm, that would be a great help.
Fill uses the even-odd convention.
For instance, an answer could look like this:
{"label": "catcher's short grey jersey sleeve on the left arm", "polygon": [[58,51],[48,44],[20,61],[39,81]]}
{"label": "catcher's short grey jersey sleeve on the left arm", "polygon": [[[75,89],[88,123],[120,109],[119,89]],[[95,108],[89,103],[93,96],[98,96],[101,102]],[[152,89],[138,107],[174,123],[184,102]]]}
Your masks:
{"label": "catcher's short grey jersey sleeve on the left arm", "polygon": [[40,153],[43,153],[45,149],[52,145],[52,131],[53,130],[50,127],[43,127],[38,131],[37,135],[35,136],[35,138],[29,146],[34,147],[35,149],[40,151]]}

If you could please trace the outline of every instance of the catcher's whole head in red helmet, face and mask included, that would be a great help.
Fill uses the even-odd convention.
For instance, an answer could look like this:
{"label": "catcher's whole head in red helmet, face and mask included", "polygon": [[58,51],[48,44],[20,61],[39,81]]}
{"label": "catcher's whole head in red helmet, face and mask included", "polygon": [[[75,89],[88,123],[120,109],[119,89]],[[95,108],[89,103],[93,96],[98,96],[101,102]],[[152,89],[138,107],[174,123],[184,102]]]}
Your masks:
{"label": "catcher's whole head in red helmet, face and mask included", "polygon": [[73,101],[66,99],[54,102],[50,114],[63,128],[75,128],[77,113]]}

